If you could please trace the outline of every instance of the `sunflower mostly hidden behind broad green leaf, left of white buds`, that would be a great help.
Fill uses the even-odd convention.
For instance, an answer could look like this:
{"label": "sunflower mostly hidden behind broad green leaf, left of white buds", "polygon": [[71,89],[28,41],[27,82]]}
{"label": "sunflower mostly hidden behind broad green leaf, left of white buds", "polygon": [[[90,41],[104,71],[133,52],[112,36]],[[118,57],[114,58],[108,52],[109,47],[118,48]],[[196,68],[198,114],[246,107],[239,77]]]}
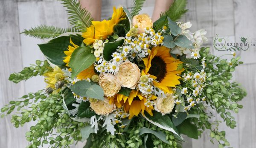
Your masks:
{"label": "sunflower mostly hidden behind broad green leaf, left of white buds", "polygon": [[[70,38],[70,44],[72,44],[73,46],[68,46],[68,50],[64,51],[65,53],[65,57],[64,57],[64,63],[67,63],[66,66],[69,67],[69,62],[70,62],[70,58],[72,53],[76,50],[76,48],[78,48],[79,46],[74,44]],[[71,71],[71,68],[69,69]],[[82,79],[86,79],[86,78],[92,78],[93,75],[96,75],[96,73],[94,72],[94,66],[93,64],[88,67],[86,70],[81,71],[81,73],[79,73],[77,75],[77,78],[82,80]]]}

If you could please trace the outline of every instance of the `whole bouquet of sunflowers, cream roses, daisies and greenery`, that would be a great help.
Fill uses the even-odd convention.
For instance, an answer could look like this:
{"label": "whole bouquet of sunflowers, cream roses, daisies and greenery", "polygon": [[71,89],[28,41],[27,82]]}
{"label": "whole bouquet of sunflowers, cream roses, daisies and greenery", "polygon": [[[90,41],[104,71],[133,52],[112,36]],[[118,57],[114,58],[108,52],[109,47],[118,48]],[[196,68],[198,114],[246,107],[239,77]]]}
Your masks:
{"label": "whole bouquet of sunflowers, cream roses, daisies and greenery", "polygon": [[[93,21],[76,0],[61,0],[73,28],[41,25],[23,34],[50,39],[38,45],[46,61],[10,75],[18,83],[44,76],[46,89],[24,95],[1,109],[1,117],[17,110],[15,127],[35,121],[26,132],[28,148],[50,145],[70,148],[181,148],[182,134],[198,139],[210,131],[219,148],[230,146],[220,121],[210,122],[212,108],[230,128],[246,95],[232,72],[241,64],[209,53],[205,30],[191,32],[190,22],[177,22],[187,11],[176,0],[152,22],[139,14],[144,0],[131,12],[113,7],[109,20]],[[26,107],[27,106],[27,107]]]}

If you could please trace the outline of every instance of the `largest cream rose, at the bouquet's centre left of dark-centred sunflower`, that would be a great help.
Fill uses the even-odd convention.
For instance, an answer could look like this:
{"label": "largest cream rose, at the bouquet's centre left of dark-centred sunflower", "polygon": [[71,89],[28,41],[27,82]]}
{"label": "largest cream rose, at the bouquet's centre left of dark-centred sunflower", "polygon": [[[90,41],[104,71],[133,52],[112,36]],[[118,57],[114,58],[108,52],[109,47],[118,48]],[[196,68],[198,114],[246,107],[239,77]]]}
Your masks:
{"label": "largest cream rose, at the bouquet's centre left of dark-centred sunflower", "polygon": [[119,71],[116,74],[122,87],[135,89],[136,84],[140,80],[140,69],[131,61],[125,61],[119,65]]}

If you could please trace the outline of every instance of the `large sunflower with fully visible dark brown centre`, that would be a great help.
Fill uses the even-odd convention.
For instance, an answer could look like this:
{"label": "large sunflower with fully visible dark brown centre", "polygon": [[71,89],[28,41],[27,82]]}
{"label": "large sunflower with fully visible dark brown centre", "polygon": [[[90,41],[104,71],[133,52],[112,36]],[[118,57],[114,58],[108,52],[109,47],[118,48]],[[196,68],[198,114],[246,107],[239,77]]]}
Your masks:
{"label": "large sunflower with fully visible dark brown centre", "polygon": [[155,76],[153,81],[155,87],[170,93],[172,91],[170,87],[180,84],[179,78],[181,77],[177,74],[183,72],[184,69],[177,70],[177,66],[182,62],[170,55],[169,48],[153,47],[148,58],[144,58],[143,61],[145,64],[143,73],[150,74],[151,77]]}

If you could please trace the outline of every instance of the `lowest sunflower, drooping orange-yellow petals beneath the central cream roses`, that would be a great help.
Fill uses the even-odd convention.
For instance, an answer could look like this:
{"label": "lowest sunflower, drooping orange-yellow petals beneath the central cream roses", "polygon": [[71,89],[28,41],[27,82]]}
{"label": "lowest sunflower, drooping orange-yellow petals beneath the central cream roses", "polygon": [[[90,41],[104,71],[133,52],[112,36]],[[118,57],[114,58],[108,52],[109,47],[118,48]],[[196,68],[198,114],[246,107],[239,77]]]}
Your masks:
{"label": "lowest sunflower, drooping orange-yellow petals beneath the central cream roses", "polygon": [[[154,100],[156,98],[157,97],[155,95],[152,95],[149,99]],[[144,111],[153,116],[152,109],[154,109],[154,107],[145,106],[147,99],[137,90],[131,90],[129,96],[116,94],[116,96],[110,98],[110,103],[113,101],[118,108],[123,106],[125,112],[129,112],[129,119],[131,119],[133,116],[137,116],[140,112],[144,114]]]}

